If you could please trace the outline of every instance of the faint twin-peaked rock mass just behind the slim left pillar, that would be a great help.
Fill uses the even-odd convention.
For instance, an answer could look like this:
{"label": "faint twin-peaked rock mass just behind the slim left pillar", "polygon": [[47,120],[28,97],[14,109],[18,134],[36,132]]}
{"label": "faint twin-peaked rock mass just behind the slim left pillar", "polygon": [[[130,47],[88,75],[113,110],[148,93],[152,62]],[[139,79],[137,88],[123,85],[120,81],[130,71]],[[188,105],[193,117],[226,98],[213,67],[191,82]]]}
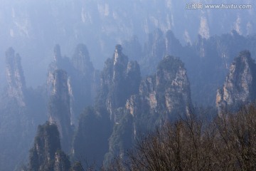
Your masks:
{"label": "faint twin-peaked rock mass just behind the slim left pillar", "polygon": [[95,94],[100,85],[99,72],[92,66],[87,47],[84,44],[78,44],[71,59],[62,56],[60,46],[56,45],[53,62],[50,63],[48,68],[48,96],[53,91],[53,73],[57,69],[67,72],[70,108],[72,109],[71,121],[76,125],[78,115],[80,115],[82,109],[87,105],[92,105],[95,99]]}

